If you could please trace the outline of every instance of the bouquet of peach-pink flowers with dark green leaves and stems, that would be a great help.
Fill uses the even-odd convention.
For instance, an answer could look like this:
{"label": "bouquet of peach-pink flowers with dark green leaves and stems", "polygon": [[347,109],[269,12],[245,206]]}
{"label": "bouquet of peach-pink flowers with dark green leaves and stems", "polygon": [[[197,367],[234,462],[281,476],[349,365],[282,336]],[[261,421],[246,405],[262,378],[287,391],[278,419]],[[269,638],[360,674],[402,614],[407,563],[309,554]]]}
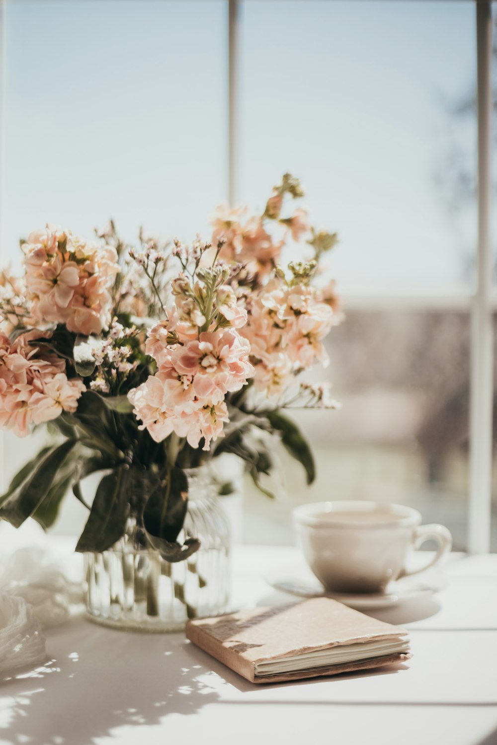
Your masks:
{"label": "bouquet of peach-pink flowers with dark green leaves and stems", "polygon": [[[192,469],[232,453],[270,494],[261,475],[276,434],[314,479],[285,409],[335,406],[297,376],[326,364],[323,338],[340,312],[334,285],[314,282],[336,235],[311,229],[302,208],[282,216],[302,196],[285,174],[263,215],[220,207],[212,239],[190,246],[142,232],[130,246],[113,223],[93,242],[50,225],[21,241],[24,276],[0,279],[0,425],[19,437],[45,425],[50,442],[1,496],[2,519],[48,528],[72,490],[89,510],[76,550],[130,552],[136,593],[137,552],[159,557],[161,576],[177,562],[194,567],[203,538],[186,525]],[[306,260],[284,269],[285,244],[304,238]],[[86,504],[81,481],[95,472]],[[126,595],[123,571],[111,603]]]}

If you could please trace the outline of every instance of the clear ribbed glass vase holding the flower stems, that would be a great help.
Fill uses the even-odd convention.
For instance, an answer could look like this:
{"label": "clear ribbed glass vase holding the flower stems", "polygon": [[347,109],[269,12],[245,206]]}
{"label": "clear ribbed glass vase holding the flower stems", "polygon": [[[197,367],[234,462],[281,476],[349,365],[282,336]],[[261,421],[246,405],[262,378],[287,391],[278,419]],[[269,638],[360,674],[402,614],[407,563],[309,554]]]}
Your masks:
{"label": "clear ribbed glass vase holding the flower stems", "polygon": [[218,615],[229,602],[229,524],[206,469],[189,475],[189,504],[178,541],[200,539],[186,561],[170,563],[142,548],[136,524],[101,554],[84,554],[86,611],[107,626],[177,631],[189,618]]}

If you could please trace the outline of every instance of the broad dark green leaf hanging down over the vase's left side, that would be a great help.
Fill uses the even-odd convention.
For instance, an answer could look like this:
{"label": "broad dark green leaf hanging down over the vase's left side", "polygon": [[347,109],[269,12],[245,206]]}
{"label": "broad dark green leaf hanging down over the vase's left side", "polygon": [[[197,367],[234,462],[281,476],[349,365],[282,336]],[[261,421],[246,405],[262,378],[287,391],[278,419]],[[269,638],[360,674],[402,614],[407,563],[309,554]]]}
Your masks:
{"label": "broad dark green leaf hanging down over the vase's left side", "polygon": [[129,512],[130,472],[118,466],[101,480],[76,551],[107,551],[123,535]]}

